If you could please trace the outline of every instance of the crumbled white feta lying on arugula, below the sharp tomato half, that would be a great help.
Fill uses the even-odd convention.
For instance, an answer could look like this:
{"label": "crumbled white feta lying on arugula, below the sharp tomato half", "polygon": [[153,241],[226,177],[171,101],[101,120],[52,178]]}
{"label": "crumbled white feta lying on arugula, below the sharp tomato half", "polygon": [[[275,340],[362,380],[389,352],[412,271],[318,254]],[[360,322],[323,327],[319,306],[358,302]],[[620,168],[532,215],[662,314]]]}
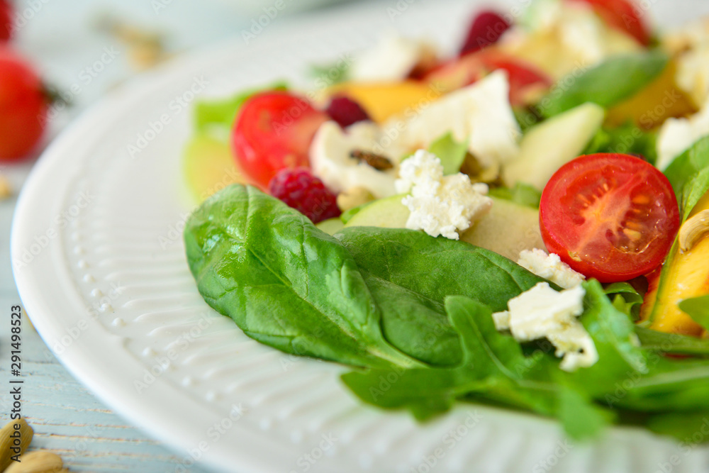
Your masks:
{"label": "crumbled white feta lying on arugula, below the sharp tomato half", "polygon": [[560,367],[574,371],[598,361],[598,352],[578,316],[584,312],[583,286],[561,292],[540,282],[508,302],[509,311],[493,314],[498,330],[510,330],[515,340],[528,342],[547,338],[563,357]]}

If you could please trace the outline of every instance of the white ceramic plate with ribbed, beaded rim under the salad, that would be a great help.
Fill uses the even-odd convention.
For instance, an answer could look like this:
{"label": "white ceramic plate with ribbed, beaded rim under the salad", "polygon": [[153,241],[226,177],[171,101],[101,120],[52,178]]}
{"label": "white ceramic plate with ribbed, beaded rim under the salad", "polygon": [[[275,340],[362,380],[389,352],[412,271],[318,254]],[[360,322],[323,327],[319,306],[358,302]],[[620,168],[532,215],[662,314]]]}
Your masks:
{"label": "white ceramic plate with ribbed, beaded rim under the salad", "polygon": [[376,411],[342,388],[341,367],[259,345],[197,293],[181,235],[191,111],[177,98],[297,82],[308,64],[389,28],[452,48],[471,3],[349,7],[266,31],[248,48],[238,40],[194,55],[116,91],[35,167],[12,238],[26,310],[72,373],[182,452],[185,469],[198,460],[241,473],[651,473],[678,455],[672,471],[707,471],[705,447],[685,454],[641,430],[573,446],[556,423],[510,411],[459,406],[427,425]]}

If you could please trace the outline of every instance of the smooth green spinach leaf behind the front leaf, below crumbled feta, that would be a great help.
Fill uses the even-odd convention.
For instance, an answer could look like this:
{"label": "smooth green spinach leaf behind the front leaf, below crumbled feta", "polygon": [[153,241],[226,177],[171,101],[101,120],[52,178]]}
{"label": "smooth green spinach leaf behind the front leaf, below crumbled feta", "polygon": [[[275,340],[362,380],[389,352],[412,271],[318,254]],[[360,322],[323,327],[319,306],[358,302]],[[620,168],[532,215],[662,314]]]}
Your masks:
{"label": "smooth green spinach leaf behind the front leaf, below crumbled feta", "polygon": [[507,310],[544,279],[497,253],[406,228],[349,227],[335,233],[362,272],[442,304],[462,295]]}

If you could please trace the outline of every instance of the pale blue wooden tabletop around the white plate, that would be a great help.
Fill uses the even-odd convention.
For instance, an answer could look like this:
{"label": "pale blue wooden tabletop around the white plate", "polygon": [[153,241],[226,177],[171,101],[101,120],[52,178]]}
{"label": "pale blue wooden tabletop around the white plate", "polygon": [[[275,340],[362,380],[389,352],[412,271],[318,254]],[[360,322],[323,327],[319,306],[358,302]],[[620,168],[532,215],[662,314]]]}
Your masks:
{"label": "pale blue wooden tabletop around the white plate", "polygon": [[[43,77],[60,90],[76,84],[74,106],[54,121],[49,138],[60,133],[78,113],[106,91],[135,74],[128,67],[125,48],[115,38],[94,28],[106,13],[136,26],[166,34],[172,51],[200,48],[238,35],[251,17],[220,1],[172,0],[24,0],[18,1],[23,23],[14,44],[30,57]],[[280,21],[280,20],[279,20]],[[277,23],[274,21],[274,23]],[[116,60],[86,80],[82,71],[100,60],[105,48],[119,51]],[[9,238],[16,197],[32,161],[0,166],[11,180],[14,195],[0,201],[0,382],[9,376],[9,311],[20,304],[13,281]],[[127,425],[77,382],[57,361],[30,324],[23,323],[23,413],[35,429],[30,449],[48,449],[62,455],[72,472],[173,472],[182,452],[172,452]],[[9,421],[9,395],[0,394],[0,422]],[[191,467],[190,472],[206,469]]]}

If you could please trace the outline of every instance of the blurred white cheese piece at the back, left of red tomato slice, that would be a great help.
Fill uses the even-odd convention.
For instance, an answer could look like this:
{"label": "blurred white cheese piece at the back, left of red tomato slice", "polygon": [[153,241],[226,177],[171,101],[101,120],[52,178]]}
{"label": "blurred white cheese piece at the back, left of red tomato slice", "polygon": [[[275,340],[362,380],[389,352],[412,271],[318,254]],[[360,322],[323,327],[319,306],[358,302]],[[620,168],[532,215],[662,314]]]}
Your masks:
{"label": "blurred white cheese piece at the back, left of red tomato slice", "polygon": [[350,79],[358,82],[396,82],[428,57],[433,48],[420,40],[388,35],[374,48],[365,51],[352,63]]}

